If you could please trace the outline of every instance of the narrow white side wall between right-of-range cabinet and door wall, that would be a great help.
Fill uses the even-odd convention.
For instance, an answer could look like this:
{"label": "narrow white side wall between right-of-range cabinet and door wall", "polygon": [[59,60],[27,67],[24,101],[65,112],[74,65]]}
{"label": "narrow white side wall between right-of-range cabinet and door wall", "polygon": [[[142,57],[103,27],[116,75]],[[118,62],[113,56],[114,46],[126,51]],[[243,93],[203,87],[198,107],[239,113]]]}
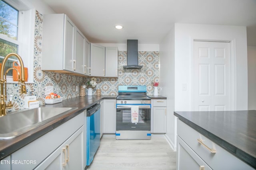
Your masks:
{"label": "narrow white side wall between right-of-range cabinet and door wall", "polygon": [[176,135],[174,111],[174,27],[166,35],[165,39],[159,46],[159,86],[161,96],[167,97],[167,133],[166,137],[173,149],[176,150]]}

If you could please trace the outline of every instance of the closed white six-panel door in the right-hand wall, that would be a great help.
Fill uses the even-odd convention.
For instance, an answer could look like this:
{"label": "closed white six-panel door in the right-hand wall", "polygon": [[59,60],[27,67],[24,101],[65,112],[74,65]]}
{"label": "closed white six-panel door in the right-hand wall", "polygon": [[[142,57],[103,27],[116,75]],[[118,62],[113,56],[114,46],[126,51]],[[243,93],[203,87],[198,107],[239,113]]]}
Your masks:
{"label": "closed white six-panel door in the right-hand wall", "polygon": [[193,110],[230,110],[230,43],[194,41]]}

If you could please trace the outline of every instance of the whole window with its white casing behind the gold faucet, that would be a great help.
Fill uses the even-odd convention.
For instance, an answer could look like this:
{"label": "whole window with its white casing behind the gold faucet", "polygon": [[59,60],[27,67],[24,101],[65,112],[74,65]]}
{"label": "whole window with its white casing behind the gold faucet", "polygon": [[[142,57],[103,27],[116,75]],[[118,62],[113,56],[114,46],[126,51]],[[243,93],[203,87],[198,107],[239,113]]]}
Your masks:
{"label": "whole window with its white casing behind the gold faucet", "polygon": [[[24,3],[25,2],[25,3]],[[28,82],[33,83],[35,9],[24,0],[0,0],[0,63],[9,53],[17,53],[28,67]],[[5,70],[16,57],[10,57]],[[7,82],[13,82],[12,70]],[[17,82],[15,82],[17,83]]]}

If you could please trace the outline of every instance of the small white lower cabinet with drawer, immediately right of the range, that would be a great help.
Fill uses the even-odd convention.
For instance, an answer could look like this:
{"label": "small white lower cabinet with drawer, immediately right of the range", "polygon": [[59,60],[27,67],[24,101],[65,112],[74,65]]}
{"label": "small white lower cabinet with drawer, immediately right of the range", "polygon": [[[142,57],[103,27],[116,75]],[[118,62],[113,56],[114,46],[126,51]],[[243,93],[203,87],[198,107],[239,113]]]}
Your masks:
{"label": "small white lower cabinet with drawer, immediately right of the range", "polygon": [[153,111],[152,133],[166,133],[166,99],[153,99],[151,105]]}

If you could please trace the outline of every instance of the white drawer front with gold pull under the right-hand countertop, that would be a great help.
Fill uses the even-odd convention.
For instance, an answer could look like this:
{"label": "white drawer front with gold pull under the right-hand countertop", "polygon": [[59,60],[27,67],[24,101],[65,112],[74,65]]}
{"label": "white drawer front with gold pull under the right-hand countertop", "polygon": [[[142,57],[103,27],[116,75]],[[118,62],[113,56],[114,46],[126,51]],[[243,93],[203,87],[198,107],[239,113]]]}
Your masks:
{"label": "white drawer front with gold pull under the right-hand countertop", "polygon": [[[212,169],[253,170],[251,166],[224,150],[219,145],[216,145],[210,141],[210,139],[204,137],[179,119],[177,122],[177,135]],[[209,147],[209,149],[216,150],[216,153],[212,153],[210,150],[206,149],[204,145],[198,142],[198,139],[201,139],[204,145]]]}

